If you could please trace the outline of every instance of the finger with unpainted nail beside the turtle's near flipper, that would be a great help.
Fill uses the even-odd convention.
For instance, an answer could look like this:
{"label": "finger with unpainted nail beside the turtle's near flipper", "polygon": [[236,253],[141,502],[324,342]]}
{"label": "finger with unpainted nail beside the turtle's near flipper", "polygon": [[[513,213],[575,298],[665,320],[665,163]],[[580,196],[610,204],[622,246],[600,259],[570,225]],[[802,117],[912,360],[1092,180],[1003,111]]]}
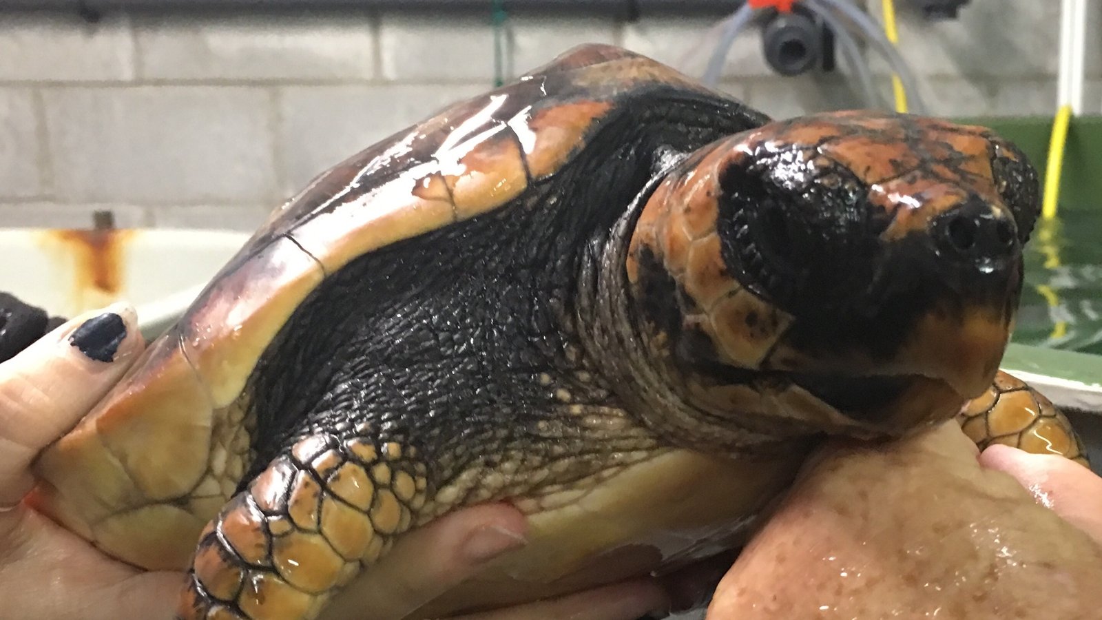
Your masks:
{"label": "finger with unpainted nail beside the turtle's near flipper", "polygon": [[441,516],[403,535],[382,559],[366,567],[334,599],[325,618],[406,618],[495,557],[522,547],[526,532],[525,515],[508,504],[477,505]]}

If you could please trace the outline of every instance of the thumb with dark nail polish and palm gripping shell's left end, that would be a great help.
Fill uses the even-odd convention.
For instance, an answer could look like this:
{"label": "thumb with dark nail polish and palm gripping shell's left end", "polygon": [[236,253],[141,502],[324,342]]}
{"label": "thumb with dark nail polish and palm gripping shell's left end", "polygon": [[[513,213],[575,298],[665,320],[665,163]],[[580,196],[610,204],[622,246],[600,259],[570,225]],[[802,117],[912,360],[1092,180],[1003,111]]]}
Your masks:
{"label": "thumb with dark nail polish and palm gripping shell's left end", "polygon": [[39,451],[122,376],[144,343],[125,306],[57,328],[0,364],[0,599],[13,618],[169,618],[182,575],[102,555],[29,506]]}

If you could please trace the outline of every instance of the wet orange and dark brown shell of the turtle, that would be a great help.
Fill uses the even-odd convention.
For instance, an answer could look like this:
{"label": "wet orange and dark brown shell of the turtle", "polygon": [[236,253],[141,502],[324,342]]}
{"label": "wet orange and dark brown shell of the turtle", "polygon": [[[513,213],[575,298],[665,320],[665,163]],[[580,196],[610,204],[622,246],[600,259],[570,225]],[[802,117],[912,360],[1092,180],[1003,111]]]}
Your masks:
{"label": "wet orange and dark brown shell of the turtle", "polygon": [[[50,484],[40,503],[126,562],[187,566],[204,525],[250,464],[263,460],[267,450],[252,435],[267,426],[273,431],[264,441],[274,448],[279,440],[273,427],[284,420],[256,418],[249,380],[272,363],[264,352],[327,277],[434,231],[454,228],[474,242],[485,232],[458,224],[526,209],[547,188],[601,174],[603,160],[633,154],[618,152],[626,142],[609,137],[659,120],[651,118],[656,99],[688,111],[683,135],[663,136],[673,139],[663,147],[690,150],[767,120],[648,58],[586,46],[320,175],[272,214],[96,410],[43,455],[36,467]],[[592,147],[598,137],[607,148]],[[620,202],[651,173],[649,165],[640,162],[639,180],[625,184]],[[574,206],[559,209],[577,215],[574,226],[583,232],[619,215],[613,204],[604,213],[599,204],[581,214]],[[380,276],[407,277],[402,253],[413,247],[380,259],[390,264],[380,265],[389,269]],[[152,448],[153,438],[165,441]],[[411,473],[421,498],[423,477]]]}

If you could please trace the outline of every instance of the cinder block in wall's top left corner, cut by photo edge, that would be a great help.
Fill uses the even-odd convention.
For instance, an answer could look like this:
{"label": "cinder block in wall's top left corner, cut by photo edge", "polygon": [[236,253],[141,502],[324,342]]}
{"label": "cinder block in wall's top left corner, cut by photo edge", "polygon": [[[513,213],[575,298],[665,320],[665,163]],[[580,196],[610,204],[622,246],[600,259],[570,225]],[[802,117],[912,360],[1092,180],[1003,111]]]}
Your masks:
{"label": "cinder block in wall's top left corner, cut by photo edge", "polygon": [[0,18],[2,81],[120,81],[133,74],[133,39],[126,15],[105,15],[97,23],[68,12]]}

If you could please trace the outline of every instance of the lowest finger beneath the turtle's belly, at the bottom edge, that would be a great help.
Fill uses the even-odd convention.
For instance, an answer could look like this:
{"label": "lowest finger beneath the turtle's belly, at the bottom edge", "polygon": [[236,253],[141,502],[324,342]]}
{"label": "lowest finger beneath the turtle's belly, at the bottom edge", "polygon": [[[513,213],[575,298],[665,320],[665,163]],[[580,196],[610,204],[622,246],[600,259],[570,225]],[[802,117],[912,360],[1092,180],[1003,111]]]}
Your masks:
{"label": "lowest finger beneath the turtle's belly, at the bottom edge", "polygon": [[665,616],[669,609],[670,599],[661,586],[652,578],[640,578],[455,620],[637,620],[651,613]]}

